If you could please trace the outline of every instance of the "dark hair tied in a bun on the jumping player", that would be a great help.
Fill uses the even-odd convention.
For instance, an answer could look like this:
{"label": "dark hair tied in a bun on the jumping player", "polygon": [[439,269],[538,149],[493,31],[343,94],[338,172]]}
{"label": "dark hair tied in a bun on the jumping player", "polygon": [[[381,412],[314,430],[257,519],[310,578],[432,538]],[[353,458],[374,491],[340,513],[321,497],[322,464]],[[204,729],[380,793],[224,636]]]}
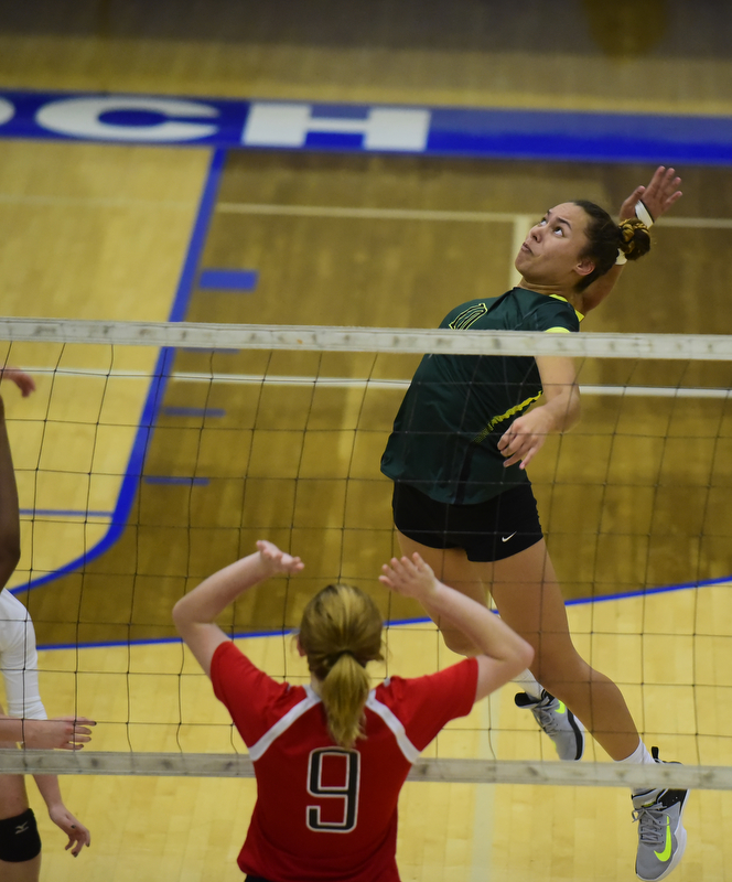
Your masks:
{"label": "dark hair tied in a bun on the jumping player", "polygon": [[589,276],[583,276],[577,283],[578,291],[584,291],[595,279],[604,276],[615,265],[617,251],[621,250],[628,260],[637,260],[650,250],[648,227],[637,217],[616,224],[604,208],[594,202],[577,200],[590,218],[585,230],[588,246],[580,257],[589,257],[595,261],[595,268]]}

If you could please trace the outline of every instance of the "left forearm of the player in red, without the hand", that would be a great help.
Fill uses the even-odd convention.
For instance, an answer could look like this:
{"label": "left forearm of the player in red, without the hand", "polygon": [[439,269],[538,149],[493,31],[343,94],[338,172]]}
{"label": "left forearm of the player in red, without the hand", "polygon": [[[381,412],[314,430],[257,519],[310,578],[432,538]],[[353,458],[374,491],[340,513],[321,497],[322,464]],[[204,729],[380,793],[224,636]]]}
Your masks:
{"label": "left forearm of the player in red, without the hand", "polygon": [[237,560],[204,580],[173,607],[173,622],[180,628],[190,624],[211,624],[248,589],[263,582],[271,569],[259,551]]}

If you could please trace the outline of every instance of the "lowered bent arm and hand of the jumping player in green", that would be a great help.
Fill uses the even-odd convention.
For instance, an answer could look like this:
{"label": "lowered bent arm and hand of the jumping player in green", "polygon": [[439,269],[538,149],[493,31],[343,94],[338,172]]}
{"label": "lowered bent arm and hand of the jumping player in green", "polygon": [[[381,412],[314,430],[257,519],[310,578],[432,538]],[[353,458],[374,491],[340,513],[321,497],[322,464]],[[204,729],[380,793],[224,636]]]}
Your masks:
{"label": "lowered bent arm and hand of the jumping player in green", "polygon": [[580,389],[574,362],[559,355],[541,355],[536,359],[543,404],[518,417],[498,441],[506,458],[504,467],[520,462],[520,469],[531,462],[543,447],[547,435],[566,432],[580,418]]}

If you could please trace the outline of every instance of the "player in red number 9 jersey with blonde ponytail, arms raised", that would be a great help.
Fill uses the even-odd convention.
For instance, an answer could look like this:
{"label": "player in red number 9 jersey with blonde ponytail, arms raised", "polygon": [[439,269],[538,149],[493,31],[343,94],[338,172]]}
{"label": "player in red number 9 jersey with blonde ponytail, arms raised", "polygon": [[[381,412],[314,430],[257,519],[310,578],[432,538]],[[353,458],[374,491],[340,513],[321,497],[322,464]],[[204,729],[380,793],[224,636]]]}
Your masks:
{"label": "player in red number 9 jersey with blonde ponytail, arms raised", "polygon": [[366,665],[381,658],[380,613],[363,591],[329,585],[309,602],[298,635],[310,684],[278,682],[214,623],[245,591],[304,566],[271,542],[257,548],[173,610],[254,761],[257,804],[239,868],[250,882],[398,882],[397,802],[411,764],[445,723],[529,665],[532,649],[415,555],[385,564],[380,581],[463,630],[476,657],[372,689]]}

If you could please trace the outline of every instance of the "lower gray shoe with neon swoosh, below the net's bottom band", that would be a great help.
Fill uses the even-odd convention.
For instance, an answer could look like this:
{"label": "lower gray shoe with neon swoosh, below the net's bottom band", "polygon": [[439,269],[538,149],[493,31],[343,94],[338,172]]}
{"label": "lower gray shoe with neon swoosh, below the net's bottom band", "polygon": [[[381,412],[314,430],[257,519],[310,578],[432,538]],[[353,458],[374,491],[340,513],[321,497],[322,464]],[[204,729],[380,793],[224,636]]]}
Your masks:
{"label": "lower gray shoe with neon swoosh, below the net's bottom band", "polygon": [[[652,747],[657,763],[658,747]],[[686,848],[681,824],[689,790],[643,790],[633,795],[633,820],[638,821],[638,857],[635,872],[644,882],[657,882],[674,870]]]}

